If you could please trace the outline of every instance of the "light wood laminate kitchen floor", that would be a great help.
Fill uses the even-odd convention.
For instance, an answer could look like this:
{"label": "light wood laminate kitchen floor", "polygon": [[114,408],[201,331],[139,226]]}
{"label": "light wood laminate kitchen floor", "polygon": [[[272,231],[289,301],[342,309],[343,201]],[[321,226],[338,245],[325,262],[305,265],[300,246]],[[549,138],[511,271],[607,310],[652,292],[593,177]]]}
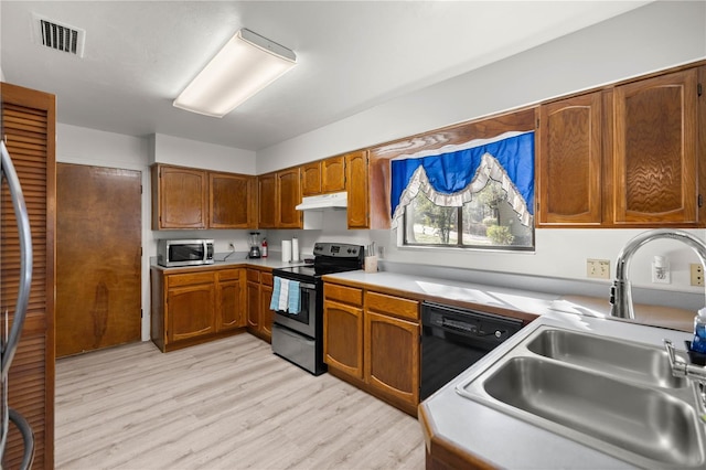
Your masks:
{"label": "light wood laminate kitchen floor", "polygon": [[56,362],[57,469],[424,469],[418,421],[239,334]]}

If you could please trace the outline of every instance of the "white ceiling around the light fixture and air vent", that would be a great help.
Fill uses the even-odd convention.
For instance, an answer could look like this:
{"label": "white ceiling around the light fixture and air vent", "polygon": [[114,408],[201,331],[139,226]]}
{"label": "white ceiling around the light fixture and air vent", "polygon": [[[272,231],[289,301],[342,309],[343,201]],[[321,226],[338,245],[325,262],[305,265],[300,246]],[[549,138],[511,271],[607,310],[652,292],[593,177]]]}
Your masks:
{"label": "white ceiling around the light fixture and air vent", "polygon": [[[57,120],[258,150],[649,1],[0,1],[6,82],[54,93]],[[36,45],[32,12],[86,31]],[[172,100],[238,29],[298,65],[222,119]],[[580,54],[580,51],[577,51]]]}

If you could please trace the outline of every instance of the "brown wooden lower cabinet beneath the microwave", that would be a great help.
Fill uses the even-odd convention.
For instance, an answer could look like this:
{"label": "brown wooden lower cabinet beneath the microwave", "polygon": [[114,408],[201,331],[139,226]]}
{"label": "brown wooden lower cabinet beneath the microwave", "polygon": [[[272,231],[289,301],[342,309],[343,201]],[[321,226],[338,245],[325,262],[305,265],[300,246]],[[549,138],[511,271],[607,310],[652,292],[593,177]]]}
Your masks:
{"label": "brown wooden lower cabinet beneath the microwave", "polygon": [[245,331],[244,269],[153,267],[150,284],[151,338],[162,352]]}

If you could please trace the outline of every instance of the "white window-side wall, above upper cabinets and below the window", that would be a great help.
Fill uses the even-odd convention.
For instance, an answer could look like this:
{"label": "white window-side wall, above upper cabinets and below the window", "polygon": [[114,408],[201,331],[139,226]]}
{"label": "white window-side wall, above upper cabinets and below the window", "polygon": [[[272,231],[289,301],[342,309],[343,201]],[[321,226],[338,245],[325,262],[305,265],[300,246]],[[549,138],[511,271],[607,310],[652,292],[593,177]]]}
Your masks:
{"label": "white window-side wall, above upper cabinets and below the window", "polygon": [[[706,2],[651,3],[258,151],[257,171],[300,164],[704,57]],[[534,254],[398,248],[397,235],[391,231],[359,231],[353,238],[363,244],[375,241],[393,261],[586,279],[586,258],[609,259],[614,275],[620,249],[640,232],[537,229]],[[331,235],[343,233],[324,227],[300,238],[306,239],[304,246],[313,246]],[[282,237],[290,234],[271,236],[275,249]],[[671,285],[651,284],[649,268],[656,254],[670,257]],[[688,285],[688,263],[697,263],[691,250],[674,242],[655,242],[638,253],[630,275],[634,285],[697,291]]]}

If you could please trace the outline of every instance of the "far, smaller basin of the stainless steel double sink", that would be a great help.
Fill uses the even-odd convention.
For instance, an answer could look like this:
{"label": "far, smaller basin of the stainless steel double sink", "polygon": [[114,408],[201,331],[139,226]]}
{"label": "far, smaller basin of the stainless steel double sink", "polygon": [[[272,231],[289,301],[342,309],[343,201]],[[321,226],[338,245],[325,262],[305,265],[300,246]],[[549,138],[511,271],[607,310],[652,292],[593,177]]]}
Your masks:
{"label": "far, smaller basin of the stainless steel double sink", "polygon": [[672,375],[666,351],[639,343],[567,330],[544,330],[527,343],[535,354],[659,387],[681,388],[686,377]]}

